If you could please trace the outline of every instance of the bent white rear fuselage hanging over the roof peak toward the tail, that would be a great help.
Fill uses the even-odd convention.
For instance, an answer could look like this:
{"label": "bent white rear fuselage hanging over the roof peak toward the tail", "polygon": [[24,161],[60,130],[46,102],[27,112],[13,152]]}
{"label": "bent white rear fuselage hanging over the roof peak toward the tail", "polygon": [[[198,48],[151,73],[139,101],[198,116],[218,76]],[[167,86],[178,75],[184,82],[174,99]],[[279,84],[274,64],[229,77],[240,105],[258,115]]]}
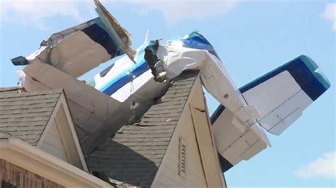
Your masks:
{"label": "bent white rear fuselage hanging over the roof peak toward the tail", "polygon": [[200,70],[204,88],[237,117],[238,121],[233,122],[235,126],[242,129],[242,132],[252,129],[267,146],[271,146],[264,129],[255,120],[256,117],[252,116],[255,111],[252,112],[253,108],[248,107],[228,71],[215,54],[206,49],[192,49],[183,47],[179,42],[172,42],[170,45],[159,47],[157,56],[159,59],[164,59],[168,80],[185,70]]}

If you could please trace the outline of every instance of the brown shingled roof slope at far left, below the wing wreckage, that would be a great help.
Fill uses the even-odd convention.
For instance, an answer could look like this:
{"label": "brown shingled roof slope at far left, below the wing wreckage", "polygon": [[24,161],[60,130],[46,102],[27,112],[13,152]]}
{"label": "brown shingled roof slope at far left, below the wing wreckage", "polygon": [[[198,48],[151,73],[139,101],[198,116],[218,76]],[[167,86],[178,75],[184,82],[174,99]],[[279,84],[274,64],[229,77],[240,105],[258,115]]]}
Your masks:
{"label": "brown shingled roof slope at far left, below the wing wreckage", "polygon": [[50,119],[62,90],[21,92],[0,88],[0,139],[16,136],[35,146]]}

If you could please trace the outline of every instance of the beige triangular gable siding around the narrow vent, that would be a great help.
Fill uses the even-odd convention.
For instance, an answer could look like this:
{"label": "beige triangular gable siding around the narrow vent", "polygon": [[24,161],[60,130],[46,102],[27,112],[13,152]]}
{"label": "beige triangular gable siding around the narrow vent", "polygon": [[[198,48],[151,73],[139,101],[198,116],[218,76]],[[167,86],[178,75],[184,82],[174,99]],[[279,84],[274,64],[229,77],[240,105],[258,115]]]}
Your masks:
{"label": "beige triangular gable siding around the narrow vent", "polygon": [[[206,187],[201,158],[198,153],[197,141],[189,109],[182,114],[175,129],[169,148],[159,169],[159,178],[152,187]],[[186,178],[179,176],[179,138],[187,142]],[[162,168],[162,169],[161,169]]]}

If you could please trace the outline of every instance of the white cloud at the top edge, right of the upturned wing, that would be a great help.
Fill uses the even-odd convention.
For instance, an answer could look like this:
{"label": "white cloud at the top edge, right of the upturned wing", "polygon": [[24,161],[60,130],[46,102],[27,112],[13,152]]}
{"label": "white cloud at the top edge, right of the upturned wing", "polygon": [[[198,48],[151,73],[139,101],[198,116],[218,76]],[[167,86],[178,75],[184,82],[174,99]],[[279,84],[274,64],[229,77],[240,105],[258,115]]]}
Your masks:
{"label": "white cloud at the top edge, right of the upturned wing", "polygon": [[141,0],[131,1],[131,4],[137,4],[140,13],[149,11],[159,11],[163,14],[169,25],[178,23],[181,20],[197,19],[202,20],[208,17],[224,15],[231,11],[237,5],[238,1],[220,1],[220,0]]}

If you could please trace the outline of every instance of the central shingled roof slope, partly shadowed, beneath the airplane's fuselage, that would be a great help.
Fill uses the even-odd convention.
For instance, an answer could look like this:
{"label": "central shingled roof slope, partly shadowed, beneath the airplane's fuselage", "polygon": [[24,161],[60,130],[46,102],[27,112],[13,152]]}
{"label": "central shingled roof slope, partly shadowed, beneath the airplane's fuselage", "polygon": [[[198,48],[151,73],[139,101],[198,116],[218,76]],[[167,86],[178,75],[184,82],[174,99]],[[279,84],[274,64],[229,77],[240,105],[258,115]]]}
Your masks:
{"label": "central shingled roof slope, partly shadowed, beneath the airplane's fuselage", "polygon": [[122,127],[87,157],[89,170],[117,184],[150,187],[197,75],[186,71],[175,78],[138,123]]}

